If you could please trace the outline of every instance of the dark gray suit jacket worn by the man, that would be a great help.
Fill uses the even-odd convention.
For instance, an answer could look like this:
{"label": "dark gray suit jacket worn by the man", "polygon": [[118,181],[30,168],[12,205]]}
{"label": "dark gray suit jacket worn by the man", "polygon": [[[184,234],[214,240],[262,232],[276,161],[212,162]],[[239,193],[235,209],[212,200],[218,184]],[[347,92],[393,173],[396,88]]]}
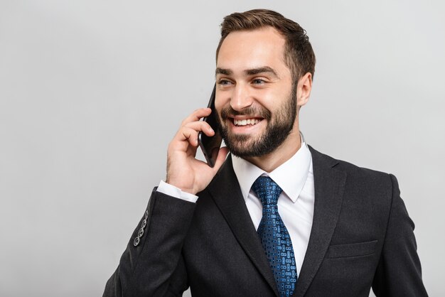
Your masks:
{"label": "dark gray suit jacket worn by the man", "polygon": [[[313,225],[294,296],[427,296],[396,178],[310,149]],[[140,226],[132,234],[104,296],[277,296],[230,157],[198,196],[151,193],[145,234],[136,247]]]}

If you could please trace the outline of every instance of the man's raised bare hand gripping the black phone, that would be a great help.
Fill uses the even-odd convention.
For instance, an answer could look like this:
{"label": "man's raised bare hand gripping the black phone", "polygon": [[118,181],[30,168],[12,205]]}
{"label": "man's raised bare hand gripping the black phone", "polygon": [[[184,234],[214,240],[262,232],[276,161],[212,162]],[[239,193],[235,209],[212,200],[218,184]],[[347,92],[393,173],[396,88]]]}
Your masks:
{"label": "man's raised bare hand gripping the black phone", "polygon": [[228,148],[220,148],[213,168],[195,158],[198,132],[203,131],[207,136],[215,134],[209,124],[200,121],[200,118],[207,117],[211,112],[210,108],[195,110],[183,120],[181,128],[168,144],[166,183],[193,195],[207,187],[229,153]]}

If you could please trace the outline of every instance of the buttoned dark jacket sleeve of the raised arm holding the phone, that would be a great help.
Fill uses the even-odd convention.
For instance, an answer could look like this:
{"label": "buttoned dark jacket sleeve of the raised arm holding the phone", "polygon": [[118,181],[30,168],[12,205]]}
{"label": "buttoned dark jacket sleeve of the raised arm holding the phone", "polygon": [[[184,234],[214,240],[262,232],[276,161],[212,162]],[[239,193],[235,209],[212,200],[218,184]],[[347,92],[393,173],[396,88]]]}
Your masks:
{"label": "buttoned dark jacket sleeve of the raised arm holding the phone", "polygon": [[146,209],[144,234],[135,246],[145,215],[103,296],[181,296],[188,288],[181,249],[194,210],[195,203],[156,192],[155,188]]}

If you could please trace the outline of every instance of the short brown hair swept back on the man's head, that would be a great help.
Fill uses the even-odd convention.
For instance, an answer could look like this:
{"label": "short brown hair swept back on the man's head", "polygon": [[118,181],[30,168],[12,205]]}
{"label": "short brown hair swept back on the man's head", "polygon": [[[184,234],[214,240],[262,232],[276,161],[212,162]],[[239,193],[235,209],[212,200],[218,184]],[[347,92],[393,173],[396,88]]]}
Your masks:
{"label": "short brown hair swept back on the man's head", "polygon": [[216,50],[216,59],[224,39],[233,31],[254,30],[271,26],[282,34],[286,40],[284,63],[291,70],[292,77],[298,81],[307,72],[315,71],[315,54],[309,37],[304,28],[285,18],[280,13],[267,9],[253,9],[245,12],[235,12],[226,16],[221,23],[221,39]]}

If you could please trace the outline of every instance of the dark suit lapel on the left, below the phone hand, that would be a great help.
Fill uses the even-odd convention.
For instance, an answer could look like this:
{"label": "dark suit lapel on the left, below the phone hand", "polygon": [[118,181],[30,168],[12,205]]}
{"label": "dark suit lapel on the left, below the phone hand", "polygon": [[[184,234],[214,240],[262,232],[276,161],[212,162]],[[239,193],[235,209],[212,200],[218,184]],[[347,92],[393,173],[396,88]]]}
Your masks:
{"label": "dark suit lapel on the left, below the phone hand", "polygon": [[218,175],[208,186],[208,191],[242,249],[278,295],[269,261],[250,218],[245,200],[242,198],[240,185],[233,171],[231,156],[227,158]]}

